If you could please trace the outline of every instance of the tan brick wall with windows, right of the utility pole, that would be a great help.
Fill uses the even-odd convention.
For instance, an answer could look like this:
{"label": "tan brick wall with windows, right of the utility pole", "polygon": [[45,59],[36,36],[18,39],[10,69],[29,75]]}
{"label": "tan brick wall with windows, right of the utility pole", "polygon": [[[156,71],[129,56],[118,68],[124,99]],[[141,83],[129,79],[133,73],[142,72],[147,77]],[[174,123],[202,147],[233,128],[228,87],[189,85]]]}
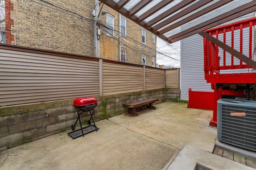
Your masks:
{"label": "tan brick wall with windows, right of the utility pole", "polygon": [[[120,61],[119,54],[119,13],[104,5],[105,10],[111,16],[114,16],[114,37],[106,35],[106,28],[101,27],[100,35],[100,57],[114,61]],[[101,22],[106,25],[106,15],[101,16]],[[142,54],[146,55],[146,65],[152,66],[152,57],[155,57],[156,63],[156,41],[152,42],[152,33],[146,31],[146,44],[142,44],[142,27],[130,19],[126,18],[127,36],[121,34],[121,48],[126,49],[127,63],[142,64]],[[135,41],[137,41],[135,43]],[[150,50],[149,48],[153,49]]]}

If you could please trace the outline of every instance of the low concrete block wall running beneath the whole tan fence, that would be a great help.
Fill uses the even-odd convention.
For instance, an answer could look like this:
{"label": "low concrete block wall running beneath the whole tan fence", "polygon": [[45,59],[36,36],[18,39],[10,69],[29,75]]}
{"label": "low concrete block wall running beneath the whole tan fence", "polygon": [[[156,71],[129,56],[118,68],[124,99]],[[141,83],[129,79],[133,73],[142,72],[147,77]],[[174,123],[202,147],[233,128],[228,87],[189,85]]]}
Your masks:
{"label": "low concrete block wall running beneath the whole tan fence", "polygon": [[[179,89],[170,92],[178,94]],[[123,103],[134,102],[146,98],[158,98],[155,104],[167,98],[166,88],[131,92],[110,96],[98,96],[95,108],[96,120],[107,115],[127,113]],[[21,104],[0,107],[0,150],[16,147],[30,141],[71,129],[77,118],[77,110],[73,107],[74,99]],[[82,114],[82,121],[87,121],[88,114]],[[78,125],[78,124],[77,124]]]}

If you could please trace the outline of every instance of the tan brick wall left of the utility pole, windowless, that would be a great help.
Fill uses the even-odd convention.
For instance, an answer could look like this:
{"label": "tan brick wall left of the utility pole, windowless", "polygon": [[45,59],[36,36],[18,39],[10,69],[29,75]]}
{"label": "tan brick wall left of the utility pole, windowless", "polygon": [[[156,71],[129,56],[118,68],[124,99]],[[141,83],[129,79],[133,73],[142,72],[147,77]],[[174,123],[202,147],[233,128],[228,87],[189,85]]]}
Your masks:
{"label": "tan brick wall left of the utility pole, windowless", "polygon": [[[12,25],[14,39],[11,42],[6,41],[7,43],[94,56],[94,25],[77,15],[91,17],[93,0],[47,1],[57,7],[39,0],[11,0],[11,2],[13,10],[9,12],[14,22],[6,21],[6,29],[8,25]],[[11,5],[6,4],[6,6]]]}

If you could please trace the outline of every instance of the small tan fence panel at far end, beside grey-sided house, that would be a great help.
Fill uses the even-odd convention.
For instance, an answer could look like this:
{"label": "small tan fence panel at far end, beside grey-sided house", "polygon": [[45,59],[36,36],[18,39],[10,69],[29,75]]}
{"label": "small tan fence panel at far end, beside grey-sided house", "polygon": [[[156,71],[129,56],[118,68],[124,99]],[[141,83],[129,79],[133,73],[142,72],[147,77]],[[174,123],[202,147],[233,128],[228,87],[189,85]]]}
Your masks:
{"label": "small tan fence panel at far end, beside grey-sided house", "polygon": [[166,70],[166,88],[180,88],[180,69]]}

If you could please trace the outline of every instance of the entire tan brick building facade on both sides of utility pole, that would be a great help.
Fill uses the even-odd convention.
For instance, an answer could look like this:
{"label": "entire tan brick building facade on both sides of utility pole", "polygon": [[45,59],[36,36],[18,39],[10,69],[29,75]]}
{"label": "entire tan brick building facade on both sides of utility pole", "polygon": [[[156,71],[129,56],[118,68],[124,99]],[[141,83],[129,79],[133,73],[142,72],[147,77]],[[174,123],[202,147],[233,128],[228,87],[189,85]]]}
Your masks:
{"label": "entire tan brick building facade on both sides of utility pole", "polygon": [[[94,23],[85,18],[93,19],[94,0],[5,0],[5,5],[6,43],[95,56]],[[152,61],[156,61],[152,33],[146,31],[143,44],[142,27],[126,19],[126,35],[122,35],[119,33],[120,14],[106,5],[102,10],[108,14],[101,16],[100,22],[107,25],[107,16],[112,16],[115,31],[114,36],[110,36],[106,27],[100,27],[100,58],[121,61],[122,48],[128,63],[142,64],[144,55],[146,65],[152,66]]]}

